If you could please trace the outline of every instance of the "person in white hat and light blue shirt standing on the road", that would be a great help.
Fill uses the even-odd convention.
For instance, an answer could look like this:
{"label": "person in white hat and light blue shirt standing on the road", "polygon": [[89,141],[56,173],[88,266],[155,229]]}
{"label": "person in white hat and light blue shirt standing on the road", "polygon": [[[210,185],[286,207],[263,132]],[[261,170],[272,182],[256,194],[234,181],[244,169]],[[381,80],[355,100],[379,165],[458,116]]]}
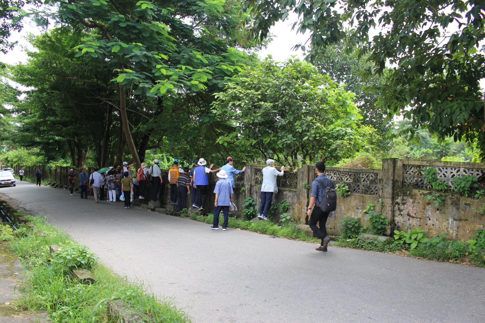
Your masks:
{"label": "person in white hat and light blue shirt standing on the road", "polygon": [[214,221],[210,227],[212,230],[219,230],[219,214],[224,214],[224,223],[222,224],[222,230],[227,230],[227,221],[229,221],[229,206],[231,205],[234,191],[232,190],[232,184],[228,181],[226,171],[222,169],[216,174],[219,181],[215,184],[215,200],[214,200]]}

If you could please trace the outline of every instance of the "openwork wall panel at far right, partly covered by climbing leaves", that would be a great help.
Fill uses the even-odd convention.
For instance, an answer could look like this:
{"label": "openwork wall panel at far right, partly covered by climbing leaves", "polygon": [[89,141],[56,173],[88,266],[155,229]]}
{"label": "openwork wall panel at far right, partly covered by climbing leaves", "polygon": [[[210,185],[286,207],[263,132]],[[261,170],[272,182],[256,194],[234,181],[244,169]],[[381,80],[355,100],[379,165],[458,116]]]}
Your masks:
{"label": "openwork wall panel at far right, partly covered by climbing leaves", "polygon": [[[430,166],[426,165],[407,165],[404,164],[404,186],[415,188],[419,190],[432,190],[433,188],[426,184],[424,180],[424,170]],[[455,177],[463,175],[471,175],[480,178],[484,171],[483,169],[464,168],[464,167],[434,167],[438,173],[438,178],[447,182],[450,188],[447,192],[452,192],[452,181]]]}

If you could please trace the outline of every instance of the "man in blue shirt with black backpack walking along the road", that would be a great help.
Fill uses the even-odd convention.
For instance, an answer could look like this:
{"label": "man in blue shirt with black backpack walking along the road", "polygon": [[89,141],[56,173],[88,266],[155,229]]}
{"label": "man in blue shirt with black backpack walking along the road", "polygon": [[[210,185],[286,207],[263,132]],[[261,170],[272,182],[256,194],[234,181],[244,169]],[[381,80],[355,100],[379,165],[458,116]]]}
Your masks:
{"label": "man in blue shirt with black backpack walking along the road", "polygon": [[[317,173],[317,178],[321,179],[326,187],[334,189],[333,180],[328,178],[325,173],[325,163],[323,161],[318,161],[315,165],[315,172]],[[317,236],[322,239],[322,243],[320,247],[316,248],[319,251],[327,251],[327,244],[330,242],[330,238],[327,236],[327,229],[325,225],[327,223],[328,217],[332,216],[332,212],[323,213],[322,209],[320,209],[320,205],[322,204],[322,197],[323,197],[323,187],[320,183],[314,179],[311,182],[311,194],[310,194],[310,203],[308,204],[308,225],[310,228],[317,234]],[[311,211],[312,206],[315,205],[313,208],[313,212]],[[320,228],[317,226],[317,222],[320,222]]]}

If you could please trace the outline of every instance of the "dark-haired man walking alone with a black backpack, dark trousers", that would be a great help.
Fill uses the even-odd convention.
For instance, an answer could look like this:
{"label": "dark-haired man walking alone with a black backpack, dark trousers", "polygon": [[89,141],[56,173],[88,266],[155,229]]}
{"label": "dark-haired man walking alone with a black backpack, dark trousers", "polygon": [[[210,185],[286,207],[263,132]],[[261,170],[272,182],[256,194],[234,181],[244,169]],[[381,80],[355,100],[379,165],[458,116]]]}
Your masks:
{"label": "dark-haired man walking alone with a black backpack, dark trousers", "polygon": [[[330,238],[327,236],[325,225],[328,217],[332,216],[332,211],[337,207],[337,193],[334,190],[333,181],[324,174],[325,163],[318,161],[315,166],[317,178],[311,182],[310,203],[307,210],[308,224],[313,232],[322,239],[320,247],[316,250],[327,251]],[[315,208],[311,211],[313,205],[315,205]],[[320,222],[320,227],[317,226],[318,222]]]}

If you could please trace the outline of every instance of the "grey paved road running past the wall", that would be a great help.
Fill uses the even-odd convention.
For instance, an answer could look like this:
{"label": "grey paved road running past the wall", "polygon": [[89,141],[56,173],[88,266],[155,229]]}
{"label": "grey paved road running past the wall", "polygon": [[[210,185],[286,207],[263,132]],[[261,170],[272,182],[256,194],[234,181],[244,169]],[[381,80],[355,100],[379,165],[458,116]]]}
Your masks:
{"label": "grey paved road running past the wall", "polygon": [[485,322],[485,270],[275,239],[28,182],[1,188],[195,322]]}

